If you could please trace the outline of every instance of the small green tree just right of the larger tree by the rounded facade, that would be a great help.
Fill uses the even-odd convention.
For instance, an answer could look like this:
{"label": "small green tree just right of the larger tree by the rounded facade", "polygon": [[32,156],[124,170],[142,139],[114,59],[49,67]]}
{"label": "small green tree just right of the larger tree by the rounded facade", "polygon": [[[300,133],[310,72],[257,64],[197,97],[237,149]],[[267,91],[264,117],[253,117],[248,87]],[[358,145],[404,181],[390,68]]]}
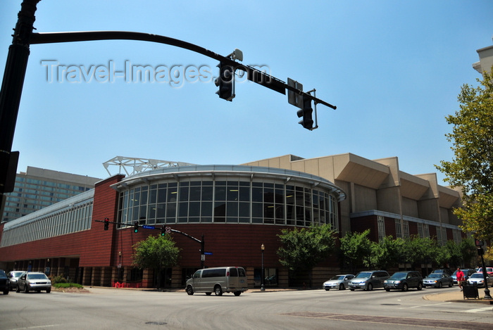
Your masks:
{"label": "small green tree just right of the larger tree by the rounded facade", "polygon": [[361,267],[370,267],[370,255],[372,253],[372,243],[368,239],[370,229],[362,233],[348,233],[341,239],[341,253],[344,262],[353,271]]}

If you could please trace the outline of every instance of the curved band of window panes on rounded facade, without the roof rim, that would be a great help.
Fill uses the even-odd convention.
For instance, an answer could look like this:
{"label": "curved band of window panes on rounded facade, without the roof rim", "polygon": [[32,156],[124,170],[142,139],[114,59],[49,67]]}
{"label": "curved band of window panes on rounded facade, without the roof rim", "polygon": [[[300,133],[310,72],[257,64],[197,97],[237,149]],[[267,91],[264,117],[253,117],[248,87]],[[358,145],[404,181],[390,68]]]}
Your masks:
{"label": "curved band of window panes on rounded facade, without the roof rim", "polygon": [[127,224],[329,223],[339,230],[337,198],[301,184],[239,180],[159,182],[120,193],[118,212],[121,222]]}

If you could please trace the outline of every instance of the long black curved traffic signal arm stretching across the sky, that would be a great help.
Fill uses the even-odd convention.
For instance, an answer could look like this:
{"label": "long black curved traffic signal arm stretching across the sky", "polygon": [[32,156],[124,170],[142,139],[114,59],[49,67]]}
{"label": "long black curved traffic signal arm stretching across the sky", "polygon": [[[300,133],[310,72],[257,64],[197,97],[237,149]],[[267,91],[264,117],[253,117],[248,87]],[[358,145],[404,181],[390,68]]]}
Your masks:
{"label": "long black curved traffic signal arm stretching across the sky", "polygon": [[171,46],[177,46],[189,51],[200,53],[209,58],[213,58],[223,65],[231,65],[235,70],[243,70],[247,73],[248,80],[261,84],[263,87],[273,89],[281,94],[286,94],[286,89],[293,91],[294,93],[308,98],[314,101],[316,104],[320,103],[329,108],[336,109],[336,106],[327,103],[323,100],[317,99],[304,91],[301,91],[295,87],[289,86],[286,82],[277,79],[271,75],[262,72],[256,68],[252,68],[249,65],[243,65],[237,61],[233,61],[231,58],[219,55],[213,51],[209,51],[204,47],[184,42],[179,39],[165,37],[158,34],[142,33],[142,32],[129,32],[129,31],[82,31],[82,32],[42,32],[32,33],[30,38],[30,44],[51,44],[58,42],[88,42],[94,40],[139,40],[143,42],[157,42],[159,44],[169,44]]}

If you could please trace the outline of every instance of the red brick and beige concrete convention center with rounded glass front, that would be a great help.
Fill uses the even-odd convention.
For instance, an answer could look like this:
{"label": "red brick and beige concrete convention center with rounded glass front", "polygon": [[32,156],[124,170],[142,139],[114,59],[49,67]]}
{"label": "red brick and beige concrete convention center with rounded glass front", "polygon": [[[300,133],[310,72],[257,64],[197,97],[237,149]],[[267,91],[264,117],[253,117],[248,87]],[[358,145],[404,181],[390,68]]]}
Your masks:
{"label": "red brick and beige concrete convention center with rounded glass front", "polygon": [[[184,288],[200,267],[242,266],[251,288],[260,285],[261,269],[267,287],[287,287],[296,284],[277,256],[282,229],[330,224],[339,237],[370,229],[373,241],[420,235],[442,244],[465,236],[451,212],[461,205],[458,191],[439,185],[434,173],[401,172],[397,158],[158,162],[120,170],[94,189],[0,224],[0,268],[62,275],[85,286]],[[135,244],[161,228],[180,248],[178,265],[161,274],[134,267]],[[313,269],[313,284],[341,270],[337,255],[329,255]]]}

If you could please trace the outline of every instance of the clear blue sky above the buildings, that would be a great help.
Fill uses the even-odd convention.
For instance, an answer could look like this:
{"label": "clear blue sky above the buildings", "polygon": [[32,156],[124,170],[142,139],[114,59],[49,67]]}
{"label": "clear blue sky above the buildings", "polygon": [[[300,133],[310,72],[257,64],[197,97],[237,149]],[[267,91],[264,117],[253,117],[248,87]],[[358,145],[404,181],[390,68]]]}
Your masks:
{"label": "clear blue sky above the buildings", "polygon": [[[0,2],[2,77],[20,3]],[[213,75],[218,63],[149,42],[32,45],[13,141],[18,171],[35,166],[105,178],[102,163],[115,156],[239,164],[355,153],[397,156],[410,174],[437,172],[434,165],[453,156],[444,118],[458,110],[462,84],[478,84],[476,50],[492,44],[491,13],[489,0],[42,0],[37,32],[146,32],[224,56],[238,48],[243,63],[266,66],[305,91],[316,88],[337,110],[319,105],[319,128],[310,132],[287,96],[251,82],[237,84],[232,102],[218,98],[211,79],[179,87],[124,77],[68,82],[62,71],[63,81],[55,75],[49,82],[46,61],[89,73],[130,63],[209,68]]]}

